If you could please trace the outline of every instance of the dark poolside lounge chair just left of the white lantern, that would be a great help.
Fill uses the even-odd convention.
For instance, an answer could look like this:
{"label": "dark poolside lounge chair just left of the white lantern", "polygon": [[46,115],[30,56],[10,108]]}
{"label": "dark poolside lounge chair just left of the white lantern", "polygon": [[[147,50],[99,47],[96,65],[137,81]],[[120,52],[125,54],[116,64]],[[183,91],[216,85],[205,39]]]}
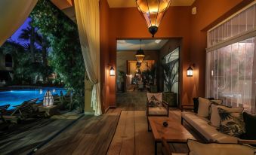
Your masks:
{"label": "dark poolside lounge chair just left of the white lantern", "polygon": [[18,123],[20,120],[26,120],[28,117],[35,117],[37,115],[37,110],[33,108],[33,104],[37,102],[38,99],[30,99],[23,102],[21,105],[14,106],[16,109],[11,114],[3,114],[5,121],[10,121],[12,123]]}

